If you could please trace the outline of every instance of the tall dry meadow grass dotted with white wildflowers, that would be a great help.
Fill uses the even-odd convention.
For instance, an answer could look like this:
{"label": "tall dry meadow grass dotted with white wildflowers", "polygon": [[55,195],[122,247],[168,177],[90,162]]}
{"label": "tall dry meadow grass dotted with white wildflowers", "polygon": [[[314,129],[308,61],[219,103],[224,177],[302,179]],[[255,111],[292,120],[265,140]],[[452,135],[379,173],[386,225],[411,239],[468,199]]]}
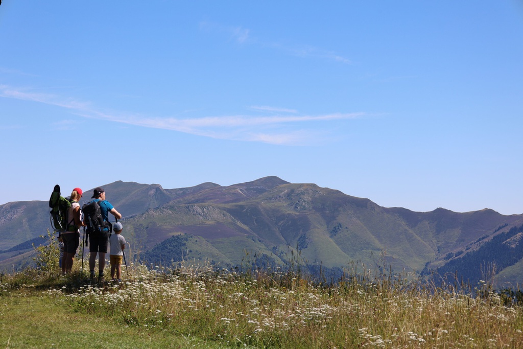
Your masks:
{"label": "tall dry meadow grass dotted with white wildflowers", "polygon": [[484,282],[472,291],[353,268],[339,283],[322,284],[292,269],[237,273],[183,264],[151,270],[131,263],[129,275],[122,269],[123,282],[90,284],[80,265],[66,277],[35,270],[2,275],[0,292],[46,289],[72,313],[219,347],[523,347],[520,305]]}

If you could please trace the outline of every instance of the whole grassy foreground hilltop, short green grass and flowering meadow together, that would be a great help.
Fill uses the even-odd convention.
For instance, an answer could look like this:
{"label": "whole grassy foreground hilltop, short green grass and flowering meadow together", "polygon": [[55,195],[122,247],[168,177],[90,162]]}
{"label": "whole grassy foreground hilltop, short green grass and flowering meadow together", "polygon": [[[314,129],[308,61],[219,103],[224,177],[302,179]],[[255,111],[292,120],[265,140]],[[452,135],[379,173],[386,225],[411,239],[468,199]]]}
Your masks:
{"label": "whole grassy foreground hilltop, short green grass and flowering meadow together", "polygon": [[91,284],[81,261],[61,276],[50,248],[38,251],[39,268],[0,277],[6,348],[523,346],[521,299],[486,283],[434,288],[407,275],[371,277],[354,265],[328,286],[299,269],[239,274],[205,264],[152,271],[132,264],[121,283]]}

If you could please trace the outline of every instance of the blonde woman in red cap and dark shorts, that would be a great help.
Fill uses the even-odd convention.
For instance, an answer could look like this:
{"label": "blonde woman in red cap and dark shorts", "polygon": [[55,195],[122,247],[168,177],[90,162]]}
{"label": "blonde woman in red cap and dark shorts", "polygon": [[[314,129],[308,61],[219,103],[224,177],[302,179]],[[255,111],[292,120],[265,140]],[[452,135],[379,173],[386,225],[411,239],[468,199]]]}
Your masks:
{"label": "blonde woman in red cap and dark shorts", "polygon": [[60,233],[63,246],[62,274],[69,274],[73,269],[74,256],[80,245],[80,227],[84,227],[82,210],[78,201],[82,197],[82,189],[74,188],[71,193],[71,207],[67,211],[67,229]]}

